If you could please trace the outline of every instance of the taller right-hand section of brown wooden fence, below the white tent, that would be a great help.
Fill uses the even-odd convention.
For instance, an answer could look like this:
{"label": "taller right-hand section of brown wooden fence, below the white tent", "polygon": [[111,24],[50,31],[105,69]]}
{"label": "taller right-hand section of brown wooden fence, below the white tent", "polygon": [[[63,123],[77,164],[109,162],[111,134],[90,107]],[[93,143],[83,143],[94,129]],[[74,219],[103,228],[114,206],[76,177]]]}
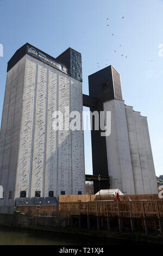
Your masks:
{"label": "taller right-hand section of brown wooden fence, below the white tent", "polygon": [[102,217],[163,217],[163,200],[94,201],[59,204],[59,215],[93,215]]}

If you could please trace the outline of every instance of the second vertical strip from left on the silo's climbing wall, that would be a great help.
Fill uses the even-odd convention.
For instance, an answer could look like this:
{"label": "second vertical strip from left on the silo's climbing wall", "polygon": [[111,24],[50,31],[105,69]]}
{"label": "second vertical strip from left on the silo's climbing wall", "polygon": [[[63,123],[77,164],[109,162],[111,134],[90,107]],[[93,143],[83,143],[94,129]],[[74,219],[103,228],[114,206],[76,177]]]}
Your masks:
{"label": "second vertical strip from left on the silo's climbing wall", "polygon": [[45,156],[46,156],[46,101],[48,89],[48,68],[46,64],[39,62],[37,72],[37,93],[35,109],[34,153],[32,169],[32,191],[41,191],[44,196],[45,182]]}

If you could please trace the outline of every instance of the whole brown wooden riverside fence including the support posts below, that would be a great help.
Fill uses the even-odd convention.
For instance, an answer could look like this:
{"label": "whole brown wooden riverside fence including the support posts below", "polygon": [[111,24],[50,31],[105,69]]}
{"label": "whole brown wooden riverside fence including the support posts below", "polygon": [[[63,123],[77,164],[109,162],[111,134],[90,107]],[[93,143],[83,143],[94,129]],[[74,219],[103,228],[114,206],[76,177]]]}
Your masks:
{"label": "whole brown wooden riverside fence including the support posts below", "polygon": [[18,212],[30,216],[60,216],[68,217],[68,225],[73,227],[73,218],[78,217],[79,228],[82,227],[82,216],[87,216],[87,228],[90,229],[90,218],[97,218],[97,230],[100,229],[100,218],[107,221],[110,230],[110,219],[118,220],[118,227],[122,231],[122,220],[130,220],[131,230],[134,231],[134,220],[142,221],[143,230],[148,234],[148,225],[155,227],[159,223],[160,234],[163,235],[163,200],[135,200],[135,201],[92,201],[92,202],[60,202],[57,205],[17,206]]}

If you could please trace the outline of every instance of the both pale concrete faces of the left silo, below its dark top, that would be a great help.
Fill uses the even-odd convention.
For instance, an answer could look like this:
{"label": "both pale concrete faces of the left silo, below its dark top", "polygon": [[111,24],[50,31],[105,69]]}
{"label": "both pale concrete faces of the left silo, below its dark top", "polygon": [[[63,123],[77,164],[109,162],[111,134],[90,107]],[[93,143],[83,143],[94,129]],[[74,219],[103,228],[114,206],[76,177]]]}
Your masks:
{"label": "both pale concrete faces of the left silo, below its dark top", "polygon": [[[50,191],[54,197],[85,194],[84,133],[68,127],[71,111],[80,113],[82,125],[82,110],[82,82],[71,76],[28,54],[8,71],[0,136],[1,211],[12,213],[21,191],[27,198],[35,198],[36,191],[41,198]],[[53,130],[55,111],[63,115],[62,130]]]}

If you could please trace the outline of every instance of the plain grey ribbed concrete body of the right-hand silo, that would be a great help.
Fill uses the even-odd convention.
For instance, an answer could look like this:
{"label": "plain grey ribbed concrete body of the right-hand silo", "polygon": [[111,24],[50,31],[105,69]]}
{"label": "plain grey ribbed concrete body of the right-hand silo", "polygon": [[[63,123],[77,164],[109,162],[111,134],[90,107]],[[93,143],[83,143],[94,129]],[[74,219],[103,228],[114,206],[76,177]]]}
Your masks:
{"label": "plain grey ribbed concrete body of the right-hand silo", "polygon": [[156,194],[157,185],[147,118],[123,100],[104,102],[111,111],[111,135],[106,137],[110,188],[124,194]]}

